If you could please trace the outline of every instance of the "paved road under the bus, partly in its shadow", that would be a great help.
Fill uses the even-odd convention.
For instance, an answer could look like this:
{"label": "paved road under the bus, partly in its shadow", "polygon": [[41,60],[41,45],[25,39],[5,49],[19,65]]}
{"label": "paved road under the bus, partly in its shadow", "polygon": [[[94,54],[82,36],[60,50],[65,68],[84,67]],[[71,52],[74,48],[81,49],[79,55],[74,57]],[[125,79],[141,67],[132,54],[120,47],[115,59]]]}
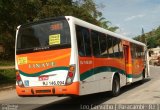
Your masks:
{"label": "paved road under the bus, partly in its shadow", "polygon": [[98,107],[102,107],[104,110],[104,107],[112,109],[119,104],[153,104],[150,106],[152,110],[159,110],[160,108],[156,107],[160,104],[160,67],[150,69],[152,75],[150,79],[123,87],[118,97],[112,98],[109,92],[105,92],[73,99],[56,96],[21,98],[16,95],[15,90],[8,90],[0,92],[0,109],[18,107],[18,110],[88,110],[88,108],[99,110]]}

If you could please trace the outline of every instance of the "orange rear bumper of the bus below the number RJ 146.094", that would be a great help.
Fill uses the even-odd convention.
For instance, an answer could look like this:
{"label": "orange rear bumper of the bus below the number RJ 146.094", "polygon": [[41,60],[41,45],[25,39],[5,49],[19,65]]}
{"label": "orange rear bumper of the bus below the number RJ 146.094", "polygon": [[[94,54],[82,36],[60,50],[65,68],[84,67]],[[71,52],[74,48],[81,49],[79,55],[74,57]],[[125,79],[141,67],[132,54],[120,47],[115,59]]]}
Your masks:
{"label": "orange rear bumper of the bus below the number RJ 146.094", "polygon": [[79,82],[65,86],[20,87],[16,85],[16,91],[19,96],[79,95]]}

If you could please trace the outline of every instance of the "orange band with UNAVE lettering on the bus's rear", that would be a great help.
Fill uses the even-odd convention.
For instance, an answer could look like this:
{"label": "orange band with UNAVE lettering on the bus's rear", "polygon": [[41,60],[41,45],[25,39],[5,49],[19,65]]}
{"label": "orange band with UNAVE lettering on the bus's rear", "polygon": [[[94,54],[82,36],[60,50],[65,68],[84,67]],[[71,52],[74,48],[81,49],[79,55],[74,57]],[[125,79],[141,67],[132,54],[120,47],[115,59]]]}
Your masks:
{"label": "orange band with UNAVE lettering on the bus's rear", "polygon": [[[27,57],[27,64],[18,65],[18,69],[28,73],[33,74],[41,72],[50,68],[59,67],[59,66],[69,66],[70,63],[70,54],[71,49],[62,49],[62,50],[51,50],[44,52],[28,53],[17,55],[18,58]],[[53,63],[52,65],[49,63]],[[45,65],[40,68],[35,68],[36,65]]]}

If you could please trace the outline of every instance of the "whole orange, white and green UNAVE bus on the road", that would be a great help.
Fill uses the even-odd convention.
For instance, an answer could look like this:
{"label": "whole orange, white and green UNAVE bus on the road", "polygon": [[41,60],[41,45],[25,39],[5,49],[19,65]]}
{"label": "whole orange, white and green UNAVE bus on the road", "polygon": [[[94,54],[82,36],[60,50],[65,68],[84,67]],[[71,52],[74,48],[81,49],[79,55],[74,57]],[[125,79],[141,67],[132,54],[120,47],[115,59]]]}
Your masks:
{"label": "whole orange, white and green UNAVE bus on the road", "polygon": [[146,45],[72,16],[17,27],[19,96],[86,95],[149,77]]}

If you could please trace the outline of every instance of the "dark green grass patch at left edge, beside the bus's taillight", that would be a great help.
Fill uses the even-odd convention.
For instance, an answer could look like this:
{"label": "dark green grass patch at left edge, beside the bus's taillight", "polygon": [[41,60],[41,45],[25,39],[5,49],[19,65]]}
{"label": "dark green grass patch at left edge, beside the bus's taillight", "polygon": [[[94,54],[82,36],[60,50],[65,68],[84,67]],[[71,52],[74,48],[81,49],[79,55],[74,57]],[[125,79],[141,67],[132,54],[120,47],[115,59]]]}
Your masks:
{"label": "dark green grass patch at left edge, beside the bus's taillight", "polygon": [[14,84],[16,81],[15,69],[0,70],[0,85]]}

